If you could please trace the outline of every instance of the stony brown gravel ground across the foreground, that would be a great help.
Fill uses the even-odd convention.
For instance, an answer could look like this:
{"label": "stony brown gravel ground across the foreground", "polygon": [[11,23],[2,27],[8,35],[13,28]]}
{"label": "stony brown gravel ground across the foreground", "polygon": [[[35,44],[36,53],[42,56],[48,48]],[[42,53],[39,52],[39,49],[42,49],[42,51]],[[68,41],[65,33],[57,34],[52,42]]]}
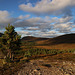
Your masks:
{"label": "stony brown gravel ground across the foreground", "polygon": [[31,60],[15,75],[75,75],[75,63],[71,61]]}

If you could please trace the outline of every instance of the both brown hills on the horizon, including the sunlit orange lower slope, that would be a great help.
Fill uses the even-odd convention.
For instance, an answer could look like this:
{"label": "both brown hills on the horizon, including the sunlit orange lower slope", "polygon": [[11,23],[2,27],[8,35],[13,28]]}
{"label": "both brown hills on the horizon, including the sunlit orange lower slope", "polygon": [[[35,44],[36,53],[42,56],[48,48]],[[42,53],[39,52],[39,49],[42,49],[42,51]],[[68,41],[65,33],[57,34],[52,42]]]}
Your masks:
{"label": "both brown hills on the horizon, including the sunlit orange lower slope", "polygon": [[35,47],[45,49],[75,49],[75,34],[65,34],[54,38],[27,36],[22,41],[35,42]]}

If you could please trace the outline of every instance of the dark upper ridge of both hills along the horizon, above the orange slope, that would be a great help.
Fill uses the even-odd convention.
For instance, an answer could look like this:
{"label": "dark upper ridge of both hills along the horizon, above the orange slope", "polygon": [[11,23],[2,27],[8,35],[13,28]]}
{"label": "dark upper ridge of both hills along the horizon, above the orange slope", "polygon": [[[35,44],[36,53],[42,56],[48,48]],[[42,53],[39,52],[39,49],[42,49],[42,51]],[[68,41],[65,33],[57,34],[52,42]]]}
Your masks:
{"label": "dark upper ridge of both hills along the horizon, above the orange slope", "polygon": [[38,42],[39,44],[48,44],[48,45],[55,45],[55,44],[73,44],[75,43],[75,33],[73,34],[65,34],[61,36],[57,36],[54,38],[40,38],[40,37],[33,37],[33,36],[26,36],[23,37],[22,40],[24,41],[32,41],[32,42]]}

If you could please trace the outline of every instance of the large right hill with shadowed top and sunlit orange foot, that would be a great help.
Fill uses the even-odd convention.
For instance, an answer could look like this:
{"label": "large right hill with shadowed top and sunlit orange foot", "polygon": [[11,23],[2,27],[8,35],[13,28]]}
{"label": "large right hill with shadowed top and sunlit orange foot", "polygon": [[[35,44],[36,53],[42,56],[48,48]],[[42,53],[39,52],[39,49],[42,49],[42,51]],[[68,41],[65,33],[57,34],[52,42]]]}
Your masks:
{"label": "large right hill with shadowed top and sunlit orange foot", "polygon": [[38,41],[37,48],[75,49],[75,34],[66,34],[48,40]]}

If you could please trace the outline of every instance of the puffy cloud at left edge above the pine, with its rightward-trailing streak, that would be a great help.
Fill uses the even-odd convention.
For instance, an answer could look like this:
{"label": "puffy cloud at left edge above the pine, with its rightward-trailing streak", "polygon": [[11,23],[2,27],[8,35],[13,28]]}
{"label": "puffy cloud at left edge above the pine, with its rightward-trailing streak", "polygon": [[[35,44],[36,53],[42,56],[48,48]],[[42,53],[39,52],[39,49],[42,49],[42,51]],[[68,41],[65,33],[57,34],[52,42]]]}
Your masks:
{"label": "puffy cloud at left edge above the pine, with its rightward-trailing streak", "polygon": [[8,24],[14,24],[16,23],[17,21],[20,21],[20,20],[23,20],[23,19],[26,19],[26,18],[29,18],[30,15],[20,15],[19,17],[10,17],[10,13],[6,10],[4,11],[1,11],[0,10],[0,28],[5,28]]}

